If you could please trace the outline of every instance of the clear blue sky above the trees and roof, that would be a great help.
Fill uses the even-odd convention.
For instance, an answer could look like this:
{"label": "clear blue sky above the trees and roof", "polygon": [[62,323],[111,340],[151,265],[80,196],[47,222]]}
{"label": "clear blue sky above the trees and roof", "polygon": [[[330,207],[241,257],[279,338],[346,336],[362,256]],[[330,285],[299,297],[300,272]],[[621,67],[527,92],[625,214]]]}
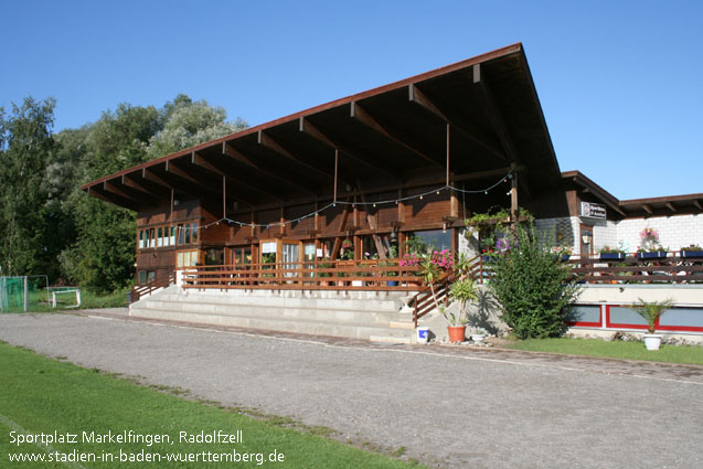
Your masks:
{"label": "clear blue sky above the trees and roof", "polygon": [[619,199],[703,192],[700,1],[0,3],[0,106],[55,130],[178,93],[249,125],[522,42],[562,171]]}

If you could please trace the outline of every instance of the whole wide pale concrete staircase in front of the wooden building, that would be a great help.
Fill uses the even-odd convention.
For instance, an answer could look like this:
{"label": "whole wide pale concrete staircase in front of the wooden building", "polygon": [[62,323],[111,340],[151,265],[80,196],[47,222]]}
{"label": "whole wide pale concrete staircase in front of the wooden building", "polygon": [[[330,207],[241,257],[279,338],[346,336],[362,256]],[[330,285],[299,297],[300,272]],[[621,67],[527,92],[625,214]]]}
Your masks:
{"label": "whole wide pale concrete staircase in front of the wooden building", "polygon": [[129,316],[202,324],[411,343],[406,292],[193,290],[171,286],[129,307]]}

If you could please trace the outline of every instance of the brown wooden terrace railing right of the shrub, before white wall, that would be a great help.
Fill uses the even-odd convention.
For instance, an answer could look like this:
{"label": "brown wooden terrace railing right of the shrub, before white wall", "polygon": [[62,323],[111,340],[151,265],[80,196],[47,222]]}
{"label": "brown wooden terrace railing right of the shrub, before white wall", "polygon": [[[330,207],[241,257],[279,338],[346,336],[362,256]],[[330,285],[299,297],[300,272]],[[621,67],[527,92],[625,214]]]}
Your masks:
{"label": "brown wooden terrace railing right of the shrub, before white wall", "polygon": [[621,259],[572,256],[565,262],[576,280],[588,284],[703,283],[703,258],[682,257],[680,253],[653,258],[629,253]]}

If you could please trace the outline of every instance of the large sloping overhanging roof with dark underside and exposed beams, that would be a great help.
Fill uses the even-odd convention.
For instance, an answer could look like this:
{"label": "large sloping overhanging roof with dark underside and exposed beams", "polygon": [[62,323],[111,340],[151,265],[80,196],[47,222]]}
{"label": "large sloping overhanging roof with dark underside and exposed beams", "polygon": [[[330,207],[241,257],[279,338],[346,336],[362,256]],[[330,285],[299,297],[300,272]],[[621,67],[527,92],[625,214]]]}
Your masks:
{"label": "large sloping overhanging roof with dark underside and exposed beams", "polygon": [[[523,194],[560,170],[522,44],[513,44],[341,98],[126,169],[83,185],[90,195],[145,210],[172,190],[263,206],[331,199],[353,189],[494,181],[521,171]],[[223,183],[224,182],[224,183]],[[223,189],[224,188],[224,189]]]}

